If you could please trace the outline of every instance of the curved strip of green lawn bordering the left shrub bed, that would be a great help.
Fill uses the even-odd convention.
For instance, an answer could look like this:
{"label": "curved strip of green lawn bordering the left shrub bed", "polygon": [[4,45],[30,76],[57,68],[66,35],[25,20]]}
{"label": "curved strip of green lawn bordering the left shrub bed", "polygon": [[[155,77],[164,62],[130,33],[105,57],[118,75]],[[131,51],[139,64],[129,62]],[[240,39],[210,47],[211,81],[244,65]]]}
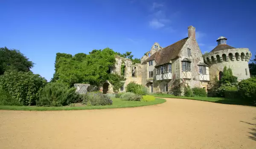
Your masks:
{"label": "curved strip of green lawn bordering the left shrub bed", "polygon": [[111,108],[128,108],[137,106],[149,106],[159,103],[166,102],[165,99],[156,98],[153,102],[143,102],[143,101],[123,101],[120,98],[111,98],[113,100],[112,105],[108,106],[0,106],[2,110],[27,110],[27,111],[54,111],[54,110],[84,110],[84,109],[111,109]]}

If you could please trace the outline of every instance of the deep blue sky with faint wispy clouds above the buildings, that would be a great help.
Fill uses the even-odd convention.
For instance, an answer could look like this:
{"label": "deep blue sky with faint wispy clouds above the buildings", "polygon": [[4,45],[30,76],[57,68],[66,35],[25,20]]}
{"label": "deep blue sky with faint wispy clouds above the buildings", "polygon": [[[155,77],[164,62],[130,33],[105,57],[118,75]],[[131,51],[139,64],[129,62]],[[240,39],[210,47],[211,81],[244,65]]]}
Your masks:
{"label": "deep blue sky with faint wispy clouds above the buildings", "polygon": [[47,80],[55,54],[109,47],[142,57],[154,42],[166,47],[196,28],[201,51],[227,44],[256,53],[253,0],[0,0],[0,47],[19,49]]}

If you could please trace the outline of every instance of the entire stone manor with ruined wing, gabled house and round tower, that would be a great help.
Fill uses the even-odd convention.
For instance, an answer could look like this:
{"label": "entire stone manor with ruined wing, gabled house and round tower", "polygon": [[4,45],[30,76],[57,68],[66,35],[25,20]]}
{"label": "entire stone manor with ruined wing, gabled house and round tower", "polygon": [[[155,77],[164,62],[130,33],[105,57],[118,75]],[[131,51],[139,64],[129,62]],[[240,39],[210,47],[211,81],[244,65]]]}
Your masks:
{"label": "entire stone manor with ruined wing, gabled house and round tower", "polygon": [[[116,57],[116,64],[111,73],[124,75],[125,86],[134,81],[148,88],[149,92],[168,92],[175,79],[193,87],[211,89],[214,80],[223,76],[224,66],[233,70],[238,80],[250,77],[248,62],[251,52],[247,48],[234,48],[227,45],[227,38],[217,39],[218,45],[203,57],[195,39],[195,27],[188,27],[188,37],[165,48],[154,43],[150,51],[141,58],[141,63],[133,64],[131,60]],[[106,81],[99,86],[103,93],[112,93],[111,83]]]}

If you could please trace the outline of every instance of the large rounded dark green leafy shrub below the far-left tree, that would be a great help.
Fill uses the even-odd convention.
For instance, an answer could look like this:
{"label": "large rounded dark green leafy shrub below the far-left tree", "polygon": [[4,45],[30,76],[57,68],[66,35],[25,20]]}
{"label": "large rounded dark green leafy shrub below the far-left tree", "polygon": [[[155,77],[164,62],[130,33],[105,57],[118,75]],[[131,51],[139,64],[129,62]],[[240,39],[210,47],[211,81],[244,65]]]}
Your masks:
{"label": "large rounded dark green leafy shrub below the far-left tree", "polygon": [[47,83],[44,77],[32,72],[7,71],[0,75],[0,87],[22,105],[33,105]]}

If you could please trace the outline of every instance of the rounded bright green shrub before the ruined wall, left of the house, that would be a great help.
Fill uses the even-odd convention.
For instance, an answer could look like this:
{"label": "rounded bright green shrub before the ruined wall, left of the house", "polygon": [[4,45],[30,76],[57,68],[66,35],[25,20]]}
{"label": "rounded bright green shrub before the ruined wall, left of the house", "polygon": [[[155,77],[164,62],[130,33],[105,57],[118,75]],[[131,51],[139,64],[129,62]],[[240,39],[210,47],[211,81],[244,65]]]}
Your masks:
{"label": "rounded bright green shrub before the ruined wall, left of the house", "polygon": [[148,95],[148,89],[143,85],[137,84],[135,82],[130,82],[127,84],[126,92],[132,92],[138,95]]}

